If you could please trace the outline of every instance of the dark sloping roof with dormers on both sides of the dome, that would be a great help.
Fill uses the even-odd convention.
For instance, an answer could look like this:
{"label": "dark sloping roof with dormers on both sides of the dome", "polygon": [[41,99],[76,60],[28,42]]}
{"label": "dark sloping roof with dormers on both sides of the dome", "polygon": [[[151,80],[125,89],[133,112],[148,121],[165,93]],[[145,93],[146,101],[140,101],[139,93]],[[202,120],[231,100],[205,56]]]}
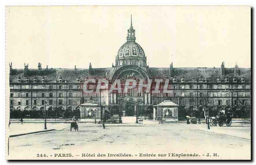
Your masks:
{"label": "dark sloping roof with dormers on both sides of the dome", "polygon": [[[41,82],[42,77],[44,76],[45,82],[47,83],[56,82],[55,81],[56,78],[57,80],[59,80],[60,76],[62,76],[63,82],[66,80],[67,83],[76,82],[76,79],[78,76],[81,77],[81,80],[84,80],[86,76],[89,79],[90,78],[93,79],[94,77],[96,79],[103,79],[104,77],[106,77],[106,79],[110,79],[114,75],[116,70],[118,70],[118,68],[119,67],[92,68],[91,75],[89,73],[89,68],[88,69],[82,69],[82,68],[43,69],[42,68],[41,71],[39,71],[38,69],[29,69],[27,76],[24,76],[24,69],[12,69],[12,72],[10,74],[10,82],[16,83],[19,76],[21,77],[22,81],[24,81],[28,77],[29,82],[32,82],[35,76],[38,82]],[[199,68],[199,67],[198,68],[172,68],[170,71],[170,68],[148,67],[146,70],[148,71],[148,76],[151,79],[154,79],[154,78],[165,79],[167,76],[168,79],[172,80],[172,78],[176,76],[178,82],[180,82],[180,79],[182,78],[182,76],[184,76],[184,79],[186,80],[186,82],[195,82],[195,80],[198,80],[198,78],[202,76],[202,78],[204,80],[207,80],[208,82],[216,82],[217,76],[220,76],[222,81],[224,81],[226,76],[229,76],[229,80],[231,82],[231,80],[235,76],[235,68],[225,68],[224,75],[221,75],[220,69],[221,68]],[[250,82],[250,74],[251,74],[250,68],[239,68],[238,73],[239,75],[236,75],[238,82],[240,82],[240,79],[242,76],[244,76],[245,82]]]}

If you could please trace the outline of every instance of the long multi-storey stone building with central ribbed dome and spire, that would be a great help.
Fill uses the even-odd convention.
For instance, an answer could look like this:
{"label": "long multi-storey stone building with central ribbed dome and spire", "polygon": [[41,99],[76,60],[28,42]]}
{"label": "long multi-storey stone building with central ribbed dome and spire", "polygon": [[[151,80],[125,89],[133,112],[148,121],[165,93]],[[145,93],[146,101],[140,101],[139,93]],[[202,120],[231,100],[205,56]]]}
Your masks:
{"label": "long multi-storey stone building with central ribbed dome and spire", "polygon": [[[239,68],[237,64],[234,68],[225,68],[224,62],[216,68],[175,68],[173,63],[169,67],[152,68],[147,66],[144,50],[135,42],[132,21],[126,39],[117,52],[116,65],[109,68],[93,68],[90,63],[89,68],[55,69],[42,68],[38,63],[37,69],[30,69],[28,64],[24,64],[23,69],[14,69],[11,63],[11,117],[22,114],[23,117],[41,118],[45,108],[48,118],[79,116],[80,105],[93,99],[100,104],[101,115],[107,114],[111,119],[117,115],[153,119],[153,106],[164,100],[179,105],[179,120],[186,115],[203,118],[208,107],[211,115],[225,110],[235,118],[250,118],[251,68]],[[157,86],[161,92],[150,90],[147,93],[136,86],[125,93],[123,85],[111,93],[96,90],[99,80],[111,85],[116,80],[124,83],[131,79],[136,82],[152,80],[151,89]],[[162,82],[157,84],[156,79]],[[90,93],[83,90],[88,80],[92,87]],[[169,81],[168,92],[164,93],[166,81]],[[83,112],[84,118],[94,115]]]}

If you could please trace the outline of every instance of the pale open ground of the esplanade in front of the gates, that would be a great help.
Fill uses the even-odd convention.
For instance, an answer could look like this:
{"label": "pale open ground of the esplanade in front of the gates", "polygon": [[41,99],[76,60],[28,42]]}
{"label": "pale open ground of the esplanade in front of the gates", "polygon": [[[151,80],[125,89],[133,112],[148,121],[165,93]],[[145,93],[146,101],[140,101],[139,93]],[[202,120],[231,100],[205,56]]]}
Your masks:
{"label": "pale open ground of the esplanade in front of the gates", "polygon": [[[251,158],[250,126],[214,127],[211,132],[206,124],[106,124],[104,130],[100,124],[79,123],[78,132],[70,132],[69,126],[61,123],[65,129],[10,138],[9,155],[17,159]],[[120,153],[131,155],[109,155]],[[175,156],[182,153],[192,155]]]}

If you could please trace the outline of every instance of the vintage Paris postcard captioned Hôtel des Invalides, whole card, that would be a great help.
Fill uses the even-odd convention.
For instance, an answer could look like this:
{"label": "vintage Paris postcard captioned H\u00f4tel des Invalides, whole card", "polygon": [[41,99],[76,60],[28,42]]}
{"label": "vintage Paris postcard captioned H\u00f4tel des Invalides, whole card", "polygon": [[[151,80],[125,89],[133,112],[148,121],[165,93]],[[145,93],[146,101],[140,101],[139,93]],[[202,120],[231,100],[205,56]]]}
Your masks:
{"label": "vintage Paris postcard captioned H\u00f4tel des Invalides, whole card", "polygon": [[251,160],[250,6],[6,6],[6,159]]}

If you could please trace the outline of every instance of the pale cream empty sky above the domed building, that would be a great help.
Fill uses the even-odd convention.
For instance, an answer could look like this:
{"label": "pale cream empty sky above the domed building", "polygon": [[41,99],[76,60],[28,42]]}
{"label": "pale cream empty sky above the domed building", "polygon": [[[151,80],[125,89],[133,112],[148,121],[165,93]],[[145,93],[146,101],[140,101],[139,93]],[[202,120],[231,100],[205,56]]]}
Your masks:
{"label": "pale cream empty sky above the domed building", "polygon": [[112,67],[131,14],[149,67],[251,67],[249,6],[8,6],[6,63]]}

